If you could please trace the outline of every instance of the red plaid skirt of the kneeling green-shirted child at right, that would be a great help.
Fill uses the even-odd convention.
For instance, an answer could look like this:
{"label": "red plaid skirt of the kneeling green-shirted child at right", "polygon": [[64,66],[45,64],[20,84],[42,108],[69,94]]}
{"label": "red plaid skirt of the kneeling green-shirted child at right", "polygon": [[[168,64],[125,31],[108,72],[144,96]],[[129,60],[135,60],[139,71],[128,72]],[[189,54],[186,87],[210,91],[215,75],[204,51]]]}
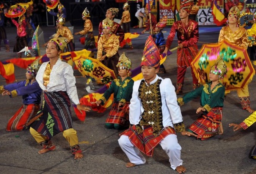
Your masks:
{"label": "red plaid skirt of the kneeling green-shirted child at right", "polygon": [[218,134],[219,126],[222,120],[222,107],[214,107],[207,115],[202,115],[189,129],[197,134],[197,138],[206,140]]}

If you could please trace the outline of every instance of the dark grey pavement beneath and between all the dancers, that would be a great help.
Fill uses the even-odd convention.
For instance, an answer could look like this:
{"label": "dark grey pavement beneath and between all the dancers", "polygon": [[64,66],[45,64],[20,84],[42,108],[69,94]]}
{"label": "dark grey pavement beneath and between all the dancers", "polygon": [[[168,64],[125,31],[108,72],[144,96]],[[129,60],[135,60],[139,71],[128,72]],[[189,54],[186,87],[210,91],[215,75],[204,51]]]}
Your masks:
{"label": "dark grey pavement beneath and between all the dancers", "polygon": [[[53,27],[43,27],[45,40],[55,32]],[[81,27],[75,27],[74,32],[80,31]],[[94,27],[97,30],[97,27]],[[199,29],[199,47],[203,43],[214,43],[218,40],[220,28]],[[170,28],[165,28],[165,38],[167,38]],[[11,50],[16,42],[16,28],[6,28]],[[139,29],[132,29],[132,32],[140,32]],[[97,32],[95,32],[97,34]],[[127,57],[132,60],[133,68],[140,64],[144,43],[148,34],[143,34],[133,39],[134,50],[120,49]],[[74,36],[76,50],[83,49],[79,43],[80,36]],[[0,61],[16,57],[16,53],[5,53],[3,43],[0,52]],[[171,48],[177,46],[174,40]],[[163,78],[170,78],[173,85],[176,85],[176,51],[168,56],[164,63],[167,73],[159,74]],[[15,76],[18,81],[25,79],[25,69],[15,67]],[[86,79],[79,71],[75,70],[74,75],[77,80],[77,89],[79,98],[88,94],[86,92]],[[0,76],[0,85],[4,85],[5,80]],[[249,84],[251,107],[256,109],[256,81],[255,78]],[[192,90],[192,77],[190,69],[187,70],[184,92]],[[129,162],[128,158],[118,145],[119,133],[121,131],[106,129],[104,127],[110,108],[105,113],[88,112],[85,122],[77,119],[72,109],[72,118],[74,129],[77,130],[80,147],[83,150],[84,157],[80,160],[74,160],[71,155],[69,144],[62,136],[58,134],[52,138],[53,143],[57,145],[55,151],[39,155],[37,152],[41,149],[28,130],[21,132],[5,131],[6,124],[11,116],[22,105],[22,98],[9,98],[0,96],[0,171],[2,174],[165,174],[177,173],[170,169],[168,156],[160,146],[154,151],[154,156],[148,158],[146,164],[126,168],[125,164]],[[194,99],[181,107],[183,120],[188,127],[199,116],[196,109],[200,106],[199,99]],[[251,148],[256,141],[256,124],[245,131],[233,132],[228,127],[229,123],[240,123],[250,115],[242,110],[239,98],[236,92],[231,92],[225,99],[223,107],[223,128],[224,134],[217,135],[209,140],[196,140],[191,137],[183,137],[178,133],[178,141],[182,147],[181,158],[183,165],[187,168],[187,174],[253,174],[256,173],[256,160],[248,158]]]}

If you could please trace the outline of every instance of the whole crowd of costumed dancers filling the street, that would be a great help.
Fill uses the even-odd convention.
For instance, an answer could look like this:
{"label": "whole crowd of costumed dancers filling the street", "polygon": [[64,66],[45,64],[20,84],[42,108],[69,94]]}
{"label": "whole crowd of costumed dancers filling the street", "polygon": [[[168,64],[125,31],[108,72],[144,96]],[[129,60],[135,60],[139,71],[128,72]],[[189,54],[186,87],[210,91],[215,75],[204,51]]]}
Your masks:
{"label": "whole crowd of costumed dancers filling the street", "polygon": [[[80,104],[73,69],[59,58],[63,51],[75,50],[74,37],[71,31],[64,26],[66,14],[64,14],[63,7],[59,6],[59,8],[61,9],[59,13],[53,14],[58,16],[57,33],[45,44],[49,61],[41,64],[39,59],[36,59],[27,67],[26,80],[0,86],[0,92],[11,98],[22,96],[24,104],[8,121],[6,131],[22,131],[29,128],[33,138],[42,146],[39,154],[54,151],[55,145],[51,138],[62,132],[70,144],[74,158],[79,159],[83,157],[83,154],[78,144],[77,132],[73,128],[71,103],[81,114],[91,109]],[[145,6],[147,16],[150,8],[149,4]],[[181,20],[174,22],[166,42],[162,33],[166,26],[166,19],[157,23],[153,15],[151,21],[148,18],[146,28],[142,32],[149,30],[152,25],[154,34],[148,37],[143,50],[140,64],[143,79],[133,81],[130,59],[125,53],[121,56],[118,53],[119,43],[124,39],[124,33],[130,30],[129,4],[125,3],[123,9],[121,24],[113,21],[119,11],[116,8],[108,9],[106,19],[99,23],[96,59],[112,69],[118,78],[112,81],[100,99],[91,104],[104,105],[110,96],[114,95],[114,103],[105,121],[105,126],[108,129],[126,129],[120,134],[118,140],[121,149],[130,161],[126,167],[144,164],[146,160],[142,154],[152,157],[154,148],[160,144],[170,158],[171,168],[179,173],[185,172],[186,168],[182,166],[181,160],[181,146],[177,142],[176,134],[181,132],[184,136],[201,140],[223,134],[222,107],[228,91],[225,91],[221,79],[227,71],[227,66],[223,59],[219,58],[210,68],[210,82],[203,85],[198,83],[194,71],[191,70],[192,91],[177,98],[177,95],[182,95],[185,72],[191,67],[193,59],[198,54],[198,23],[189,19],[192,4],[190,0],[185,0],[179,10]],[[237,7],[229,10],[228,25],[221,29],[218,42],[226,39],[246,49],[248,46],[247,31],[237,26],[239,16],[240,11]],[[85,49],[94,49],[93,26],[88,9],[82,13],[82,19],[85,20],[84,30],[75,35],[85,35]],[[17,27],[18,35],[14,51],[19,51],[28,42],[25,29],[26,23],[31,22],[25,16],[20,17],[18,21],[14,19],[12,21]],[[28,26],[28,29],[31,28],[34,26]],[[8,45],[5,41],[6,34],[2,34],[5,32],[3,29],[3,27],[0,28],[1,37]],[[175,88],[169,78],[163,79],[158,76],[158,73],[166,72],[163,65],[160,65],[160,54],[167,53],[176,33],[178,50]],[[128,45],[132,48],[131,42]],[[7,46],[6,51],[9,51]],[[42,93],[43,101],[40,108]],[[237,95],[242,109],[252,114],[240,124],[229,124],[230,127],[234,126],[234,131],[241,128],[247,129],[256,121],[256,112],[250,107],[248,85],[237,89]],[[201,107],[198,107],[196,113],[201,113],[201,116],[189,126],[188,130],[185,130],[180,106],[198,97],[200,97]]]}

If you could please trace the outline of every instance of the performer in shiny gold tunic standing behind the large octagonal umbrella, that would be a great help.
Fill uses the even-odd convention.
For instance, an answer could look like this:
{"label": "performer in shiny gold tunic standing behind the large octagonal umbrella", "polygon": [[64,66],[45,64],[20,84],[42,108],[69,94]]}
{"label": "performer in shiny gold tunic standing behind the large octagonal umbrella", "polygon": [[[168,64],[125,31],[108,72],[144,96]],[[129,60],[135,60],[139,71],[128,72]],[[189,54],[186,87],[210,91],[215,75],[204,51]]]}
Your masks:
{"label": "performer in shiny gold tunic standing behind the large octagonal umbrella", "polygon": [[[218,42],[223,42],[224,39],[228,40],[232,44],[239,47],[243,47],[245,50],[248,47],[248,36],[245,28],[239,28],[237,21],[240,17],[239,9],[234,6],[229,10],[228,14],[228,26],[223,26],[220,30]],[[254,110],[250,107],[250,95],[248,85],[242,89],[237,89],[237,95],[239,96],[240,103],[244,110],[253,113]]]}

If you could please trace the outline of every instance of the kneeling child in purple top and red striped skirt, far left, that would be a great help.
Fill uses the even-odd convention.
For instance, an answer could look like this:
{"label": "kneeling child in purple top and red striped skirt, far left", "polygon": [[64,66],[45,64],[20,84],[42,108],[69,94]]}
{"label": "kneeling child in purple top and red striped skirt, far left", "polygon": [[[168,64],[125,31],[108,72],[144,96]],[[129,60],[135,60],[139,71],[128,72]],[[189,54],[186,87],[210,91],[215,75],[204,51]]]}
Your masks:
{"label": "kneeling child in purple top and red striped skirt, far left", "polygon": [[25,124],[38,112],[42,93],[38,82],[36,82],[36,73],[39,66],[39,59],[37,59],[27,67],[27,80],[0,86],[2,95],[9,95],[11,98],[22,95],[23,99],[23,106],[10,118],[6,131],[24,130],[26,128]]}

